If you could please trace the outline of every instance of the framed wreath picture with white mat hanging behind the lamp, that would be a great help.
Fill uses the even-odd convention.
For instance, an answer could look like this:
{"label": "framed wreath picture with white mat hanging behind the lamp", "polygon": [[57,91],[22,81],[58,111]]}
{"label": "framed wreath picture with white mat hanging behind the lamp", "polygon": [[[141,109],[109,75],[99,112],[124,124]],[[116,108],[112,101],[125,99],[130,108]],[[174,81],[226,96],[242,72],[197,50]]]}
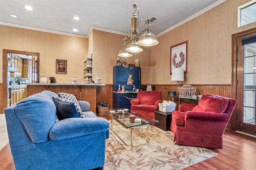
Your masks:
{"label": "framed wreath picture with white mat hanging behind the lamp", "polygon": [[188,73],[188,41],[179,43],[171,47],[171,66],[172,69],[181,68],[184,69],[184,73]]}

